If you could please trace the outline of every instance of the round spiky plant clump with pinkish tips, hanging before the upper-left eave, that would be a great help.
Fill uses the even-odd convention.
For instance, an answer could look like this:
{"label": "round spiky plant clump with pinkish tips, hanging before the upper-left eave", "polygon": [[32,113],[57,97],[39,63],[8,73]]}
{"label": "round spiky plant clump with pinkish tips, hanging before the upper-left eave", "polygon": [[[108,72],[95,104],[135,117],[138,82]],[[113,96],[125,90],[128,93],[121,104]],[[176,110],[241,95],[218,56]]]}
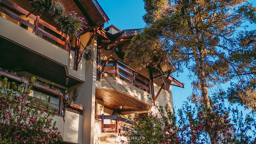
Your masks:
{"label": "round spiky plant clump with pinkish tips, hanging before the upper-left eave", "polygon": [[68,34],[69,37],[77,37],[84,28],[87,28],[83,17],[77,17],[77,13],[72,11],[68,15],[63,14],[54,18],[54,22],[60,26],[60,31]]}

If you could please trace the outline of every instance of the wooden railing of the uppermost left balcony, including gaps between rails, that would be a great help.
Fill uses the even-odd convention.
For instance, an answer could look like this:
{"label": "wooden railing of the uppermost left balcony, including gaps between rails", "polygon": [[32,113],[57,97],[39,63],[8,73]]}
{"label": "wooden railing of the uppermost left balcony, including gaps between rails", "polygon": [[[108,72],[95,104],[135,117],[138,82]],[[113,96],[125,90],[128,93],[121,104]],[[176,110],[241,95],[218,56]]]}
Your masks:
{"label": "wooden railing of the uppermost left balcony, including gaps between rails", "polygon": [[[22,25],[25,25],[26,27],[29,27],[33,29],[33,33],[36,35],[39,35],[39,33],[42,34],[42,37],[49,42],[58,45],[59,47],[62,47],[66,50],[68,50],[69,46],[69,37],[66,36],[64,33],[57,30],[57,28],[53,27],[52,25],[48,24],[47,22],[40,19],[39,16],[35,16],[33,14],[29,14],[28,11],[24,10],[23,8],[17,6],[16,4],[8,1],[8,0],[0,0],[0,11],[4,14],[8,15],[9,17],[17,20]],[[29,15],[28,15],[29,14]],[[34,20],[34,24],[30,23],[29,21],[26,21],[21,15],[25,15],[31,19]],[[21,25],[21,26],[22,26]],[[46,27],[47,29],[42,29],[39,27],[39,25]],[[49,31],[49,32],[47,32]],[[54,35],[55,36],[54,36]]]}

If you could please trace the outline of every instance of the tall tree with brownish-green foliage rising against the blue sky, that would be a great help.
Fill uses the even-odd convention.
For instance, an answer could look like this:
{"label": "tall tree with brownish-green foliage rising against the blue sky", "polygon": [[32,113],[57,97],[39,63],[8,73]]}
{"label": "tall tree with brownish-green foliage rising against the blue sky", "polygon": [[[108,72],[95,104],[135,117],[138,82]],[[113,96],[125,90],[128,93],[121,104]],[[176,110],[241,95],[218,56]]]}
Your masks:
{"label": "tall tree with brownish-green foliage rising against the blue sky", "polygon": [[[256,8],[247,0],[144,0],[146,28],[129,45],[125,62],[141,69],[159,57],[157,63],[170,61],[177,73],[187,67],[194,88],[193,102],[211,108],[208,89],[234,80],[229,97],[244,92],[255,79],[256,30],[246,31],[245,22],[256,23]],[[244,30],[245,29],[245,30]],[[252,52],[251,52],[252,51]],[[254,52],[253,52],[254,51]],[[243,63],[237,55],[250,58]],[[254,57],[254,59],[253,59]],[[140,63],[138,63],[140,62]],[[249,85],[251,86],[251,85]],[[250,87],[255,109],[255,84]]]}

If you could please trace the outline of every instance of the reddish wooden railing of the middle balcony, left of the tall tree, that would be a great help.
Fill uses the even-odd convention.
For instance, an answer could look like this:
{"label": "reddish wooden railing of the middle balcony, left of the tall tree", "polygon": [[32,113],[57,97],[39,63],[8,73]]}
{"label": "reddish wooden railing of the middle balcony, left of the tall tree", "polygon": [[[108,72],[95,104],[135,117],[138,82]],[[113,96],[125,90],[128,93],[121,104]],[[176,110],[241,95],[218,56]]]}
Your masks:
{"label": "reddish wooden railing of the middle balcony, left of the tall tree", "polygon": [[[102,65],[106,61],[102,61]],[[119,61],[109,61],[102,72],[102,76],[116,76],[126,82],[138,87],[141,90],[144,90],[148,93],[152,93],[152,82],[150,79],[139,74],[135,70],[129,68],[125,64]]]}

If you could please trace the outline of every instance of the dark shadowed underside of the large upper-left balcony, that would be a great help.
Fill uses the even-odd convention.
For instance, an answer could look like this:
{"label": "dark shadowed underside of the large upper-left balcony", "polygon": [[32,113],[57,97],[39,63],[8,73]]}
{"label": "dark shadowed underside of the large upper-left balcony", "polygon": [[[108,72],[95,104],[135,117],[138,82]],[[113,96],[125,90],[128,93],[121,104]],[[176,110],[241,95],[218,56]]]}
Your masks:
{"label": "dark shadowed underside of the large upper-left balcony", "polygon": [[[72,87],[83,81],[68,76],[65,66],[18,44],[0,37],[0,67],[12,71],[27,71],[56,84]],[[17,70],[19,68],[20,70]],[[69,78],[66,85],[66,78]]]}

